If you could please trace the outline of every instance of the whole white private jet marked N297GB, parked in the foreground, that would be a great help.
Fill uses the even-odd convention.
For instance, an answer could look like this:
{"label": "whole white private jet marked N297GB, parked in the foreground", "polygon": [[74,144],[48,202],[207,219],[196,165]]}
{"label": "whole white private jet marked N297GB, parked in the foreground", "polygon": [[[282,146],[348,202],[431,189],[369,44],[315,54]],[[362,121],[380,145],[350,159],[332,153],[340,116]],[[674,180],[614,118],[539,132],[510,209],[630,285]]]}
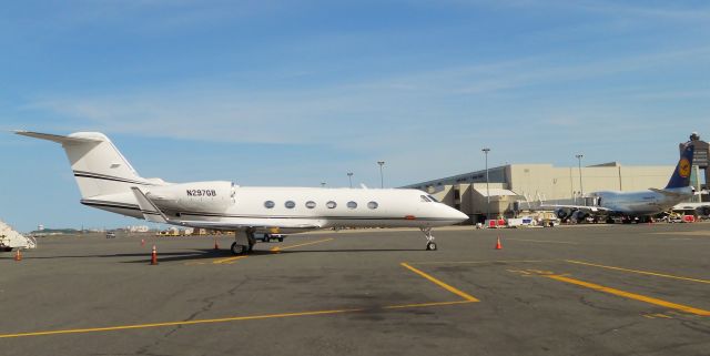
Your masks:
{"label": "whole white private jet marked N297GB, parked in the foreground", "polygon": [[427,240],[426,250],[433,251],[432,227],[468,218],[417,190],[246,187],[227,181],[168,183],[141,177],[102,133],[16,133],[62,145],[82,204],[156,223],[234,231],[233,254],[251,252],[257,232],[329,227],[418,227]]}

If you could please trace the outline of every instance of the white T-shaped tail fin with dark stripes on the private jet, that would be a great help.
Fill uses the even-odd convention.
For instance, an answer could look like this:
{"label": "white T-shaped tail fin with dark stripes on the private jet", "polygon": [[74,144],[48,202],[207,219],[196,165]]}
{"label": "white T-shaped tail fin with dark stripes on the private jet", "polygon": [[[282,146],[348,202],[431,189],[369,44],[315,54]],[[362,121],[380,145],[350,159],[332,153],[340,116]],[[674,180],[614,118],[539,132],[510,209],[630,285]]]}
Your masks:
{"label": "white T-shaped tail fin with dark stripes on the private jet", "polygon": [[154,185],[141,177],[111,140],[99,132],[63,135],[16,131],[17,134],[60,143],[83,199],[128,193],[131,186]]}

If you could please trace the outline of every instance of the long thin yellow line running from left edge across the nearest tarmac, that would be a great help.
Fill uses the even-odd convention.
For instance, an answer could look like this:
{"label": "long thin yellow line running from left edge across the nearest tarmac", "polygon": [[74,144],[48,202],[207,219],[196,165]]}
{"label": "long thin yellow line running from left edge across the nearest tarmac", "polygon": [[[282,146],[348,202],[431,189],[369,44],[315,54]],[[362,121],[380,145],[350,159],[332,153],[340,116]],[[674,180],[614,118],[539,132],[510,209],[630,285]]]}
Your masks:
{"label": "long thin yellow line running from left edge across the nearest tarmac", "polygon": [[336,314],[359,313],[359,312],[376,311],[376,309],[404,309],[404,308],[418,308],[418,307],[458,305],[458,304],[466,304],[466,303],[473,303],[473,302],[474,301],[420,303],[420,304],[407,304],[407,305],[389,305],[389,306],[384,306],[384,307],[379,307],[379,308],[347,308],[347,309],[315,311],[315,312],[301,312],[301,313],[282,313],[282,314],[267,314],[267,315],[253,315],[253,316],[231,316],[231,317],[214,318],[214,319],[197,319],[197,321],[185,321],[185,322],[168,322],[168,323],[152,323],[152,324],[120,325],[120,326],[74,328],[74,329],[63,329],[63,330],[31,332],[31,333],[17,333],[17,334],[0,334],[0,338],[48,336],[48,335],[67,335],[67,334],[105,333],[105,332],[119,332],[119,330],[143,329],[143,328],[155,328],[155,327],[168,327],[168,326],[186,326],[186,325],[230,323],[230,322],[244,322],[244,321],[258,321],[258,319],[298,317],[298,316],[336,315]]}

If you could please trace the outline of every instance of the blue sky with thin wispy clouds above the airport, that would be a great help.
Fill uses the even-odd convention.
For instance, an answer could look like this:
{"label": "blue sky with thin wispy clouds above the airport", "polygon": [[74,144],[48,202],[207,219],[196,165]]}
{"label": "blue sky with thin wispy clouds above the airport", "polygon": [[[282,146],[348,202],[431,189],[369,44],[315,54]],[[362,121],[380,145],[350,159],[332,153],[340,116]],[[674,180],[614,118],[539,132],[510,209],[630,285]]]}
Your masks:
{"label": "blue sky with thin wispy clouds above the airport", "polygon": [[[490,165],[673,164],[710,138],[707,1],[9,1],[0,130],[106,133],[143,176],[398,186]],[[79,204],[62,150],[0,135],[0,218]]]}

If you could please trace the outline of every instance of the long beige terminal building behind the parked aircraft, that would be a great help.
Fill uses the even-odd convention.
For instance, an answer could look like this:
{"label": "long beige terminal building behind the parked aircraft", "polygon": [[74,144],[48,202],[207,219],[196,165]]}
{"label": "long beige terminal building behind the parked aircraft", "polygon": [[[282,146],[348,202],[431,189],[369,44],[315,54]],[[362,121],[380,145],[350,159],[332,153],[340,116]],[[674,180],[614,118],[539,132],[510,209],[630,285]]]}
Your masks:
{"label": "long beige terminal building behind the parked aircraft", "polygon": [[[697,192],[708,190],[708,143],[697,142],[691,173],[691,184]],[[483,222],[488,211],[491,218],[510,217],[539,205],[540,201],[546,204],[584,204],[584,196],[596,191],[662,189],[674,169],[674,164],[630,166],[617,162],[581,169],[552,164],[507,164],[488,169],[488,184],[486,170],[480,170],[404,187],[428,192],[440,202],[464,212],[474,222]],[[710,201],[708,194],[696,199]]]}

